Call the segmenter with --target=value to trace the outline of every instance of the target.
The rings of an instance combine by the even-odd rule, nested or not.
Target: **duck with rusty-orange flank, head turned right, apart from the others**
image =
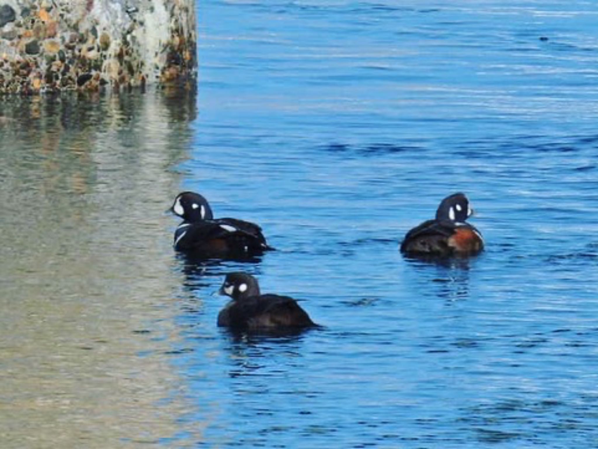
[[[436,218],[414,227],[401,244],[403,253],[419,256],[472,256],[484,248],[480,231],[465,223],[471,216],[469,200],[463,193],[443,199]]]

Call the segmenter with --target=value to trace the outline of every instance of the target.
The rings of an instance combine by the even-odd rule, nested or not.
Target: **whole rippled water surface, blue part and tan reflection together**
[[[5,447],[598,447],[595,5],[197,14],[197,97],[0,104]],[[181,190],[277,250],[175,254]],[[403,257],[457,191],[484,253]],[[230,271],[323,328],[219,329]]]

